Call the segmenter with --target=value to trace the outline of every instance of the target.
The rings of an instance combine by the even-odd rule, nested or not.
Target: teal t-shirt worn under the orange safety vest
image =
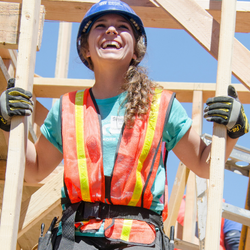
[[[105,176],[110,176],[112,174],[116,147],[124,122],[125,107],[122,104],[126,94],[126,92],[123,92],[122,94],[111,98],[96,99],[102,123],[103,166]],[[188,117],[185,109],[178,100],[174,99],[168,123],[165,125],[163,131],[163,141],[166,142],[168,151],[175,147],[178,141],[190,128],[191,124],[192,120]],[[48,113],[48,116],[41,127],[41,132],[60,152],[63,152],[60,100],[54,104]],[[161,159],[157,175],[151,189],[154,198],[150,208],[159,214],[164,208],[164,205],[160,202],[160,198],[164,194],[165,176],[166,172]],[[97,232],[95,236],[100,236],[100,234],[102,235],[102,233]]]

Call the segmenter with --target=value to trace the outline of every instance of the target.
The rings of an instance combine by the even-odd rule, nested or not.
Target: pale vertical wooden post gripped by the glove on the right
[[[216,80],[217,96],[227,95],[227,87],[231,83],[235,19],[236,0],[223,0]],[[206,250],[218,250],[220,244],[226,136],[225,126],[214,124],[208,193]]]

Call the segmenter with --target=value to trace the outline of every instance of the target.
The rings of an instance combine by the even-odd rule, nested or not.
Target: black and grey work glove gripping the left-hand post
[[[15,87],[15,79],[8,80],[7,90],[0,97],[0,128],[10,131],[11,118],[29,116],[33,111],[32,93]]]

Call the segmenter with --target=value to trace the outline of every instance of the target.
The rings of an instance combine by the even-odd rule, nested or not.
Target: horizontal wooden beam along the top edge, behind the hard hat
[[[21,3],[21,0],[5,1]],[[221,1],[196,1],[198,4],[201,4],[201,6],[204,6],[204,9],[214,16],[217,22],[220,22]],[[42,4],[46,9],[47,20],[81,22],[87,10],[96,2],[97,1],[95,0],[43,0]],[[134,11],[141,17],[145,27],[183,29],[183,27],[174,18],[172,18],[171,15],[167,14],[162,8],[157,8],[151,1],[125,0],[125,2],[130,4]],[[154,0],[154,2],[156,3],[157,1]],[[250,32],[250,6],[247,1],[237,3],[236,32]]]

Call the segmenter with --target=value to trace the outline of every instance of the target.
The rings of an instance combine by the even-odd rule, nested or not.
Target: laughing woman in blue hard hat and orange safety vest
[[[78,53],[94,71],[95,84],[63,95],[41,137],[27,149],[27,182],[41,181],[64,159],[64,214],[54,249],[168,249],[162,141],[197,175],[209,177],[210,146],[192,129],[174,94],[138,66],[146,41],[140,18],[121,1],[93,5],[80,25]],[[13,115],[6,108],[11,92],[1,97],[5,123]],[[30,110],[30,96],[24,98]],[[210,121],[230,124],[226,158],[237,141],[233,138],[248,129],[235,98],[212,98],[205,113]],[[230,130],[239,123],[247,125]]]

